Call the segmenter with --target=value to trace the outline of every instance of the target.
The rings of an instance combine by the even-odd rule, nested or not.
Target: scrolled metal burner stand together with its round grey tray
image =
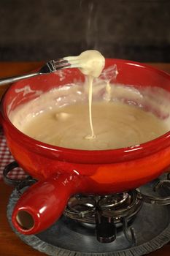
[[[139,256],[170,241],[169,175],[167,179],[161,177],[139,189],[116,195],[75,195],[55,225],[36,236],[23,236],[12,226],[12,210],[20,194],[36,181],[30,176],[24,181],[8,178],[7,174],[17,166],[13,162],[4,169],[4,181],[17,185],[9,198],[7,218],[15,233],[40,252]],[[96,233],[98,241],[104,243],[97,241]]]

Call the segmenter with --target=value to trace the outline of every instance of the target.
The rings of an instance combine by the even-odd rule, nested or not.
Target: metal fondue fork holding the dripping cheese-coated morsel
[[[31,78],[36,75],[44,75],[44,74],[53,73],[59,69],[80,67],[79,62],[77,60],[74,61],[75,60],[74,57],[72,57],[72,58],[73,59],[71,61],[68,61],[66,58],[48,61],[45,64],[45,66],[43,66],[41,69],[39,69],[38,72],[34,72],[31,74],[26,74],[26,75],[13,76],[13,77],[9,77],[9,78],[2,78],[2,79],[0,79],[0,86],[5,85],[7,83],[14,83],[14,82],[17,82],[18,80]]]

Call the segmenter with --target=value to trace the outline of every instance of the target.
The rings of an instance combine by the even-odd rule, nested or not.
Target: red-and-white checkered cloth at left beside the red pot
[[[7,147],[7,143],[4,137],[4,133],[0,127],[0,180],[2,179],[2,173],[4,167],[8,165],[10,162],[13,162],[14,158],[9,152]],[[12,179],[22,179],[26,177],[26,173],[20,167],[15,168],[9,173],[9,177]]]

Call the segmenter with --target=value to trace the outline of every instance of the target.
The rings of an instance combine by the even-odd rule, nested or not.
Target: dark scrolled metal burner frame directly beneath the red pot
[[[74,195],[63,214],[83,223],[85,227],[95,225],[96,238],[101,243],[115,241],[117,228],[122,226],[125,238],[134,246],[134,229],[128,229],[128,222],[134,219],[141,207],[142,200],[138,199],[135,190],[104,196]]]

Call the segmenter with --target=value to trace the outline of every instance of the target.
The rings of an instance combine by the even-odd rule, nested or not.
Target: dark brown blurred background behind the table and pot
[[[170,61],[170,0],[0,0],[0,61]]]

